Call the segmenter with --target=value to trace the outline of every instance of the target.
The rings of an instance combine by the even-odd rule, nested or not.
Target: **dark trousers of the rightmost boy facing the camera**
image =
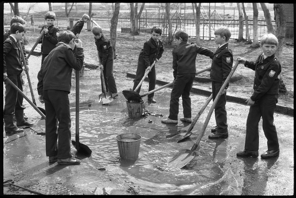
[[[279,94],[265,94],[250,106],[247,118],[245,149],[259,149],[259,121],[262,117],[262,128],[267,139],[268,150],[279,149],[276,126],[274,125],[274,110]]]

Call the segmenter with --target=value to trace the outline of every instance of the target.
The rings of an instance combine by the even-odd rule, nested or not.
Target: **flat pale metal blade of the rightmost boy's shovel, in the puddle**
[[[196,152],[191,152],[190,155],[187,156],[189,154],[189,152],[190,152],[190,150],[188,150],[188,149],[180,150],[173,157],[173,159],[168,162],[168,164],[173,165],[177,168],[182,168],[182,167],[186,166],[186,164],[188,164],[196,156]]]

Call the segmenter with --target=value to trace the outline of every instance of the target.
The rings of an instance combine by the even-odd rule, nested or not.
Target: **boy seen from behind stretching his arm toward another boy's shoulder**
[[[170,94],[170,115],[161,120],[165,124],[178,124],[179,98],[182,96],[183,114],[181,121],[191,123],[190,90],[196,73],[197,54],[213,58],[213,51],[188,43],[188,34],[184,30],[175,33],[177,47],[173,49],[174,85]]]

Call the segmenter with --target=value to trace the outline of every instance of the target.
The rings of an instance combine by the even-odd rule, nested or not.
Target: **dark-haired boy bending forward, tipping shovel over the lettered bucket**
[[[156,65],[154,65],[152,69],[151,69],[151,65],[154,61],[155,63],[158,62],[158,60],[161,58],[164,51],[163,42],[159,38],[161,36],[161,33],[162,33],[162,29],[160,27],[158,26],[152,27],[151,38],[144,43],[144,47],[139,54],[138,67],[137,67],[135,82],[133,84],[133,90],[136,89],[141,79],[144,77],[145,73],[148,70],[150,70],[150,72],[148,73],[148,78],[149,78],[148,91],[155,89],[155,84],[156,84],[155,66]],[[137,92],[140,93],[140,90],[141,90],[141,86],[139,87]],[[153,97],[154,97],[154,93],[149,94],[148,102],[156,103],[156,100]]]

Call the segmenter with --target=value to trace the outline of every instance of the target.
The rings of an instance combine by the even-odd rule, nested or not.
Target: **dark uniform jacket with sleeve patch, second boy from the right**
[[[228,43],[224,44],[221,48],[218,48],[213,57],[210,79],[216,82],[225,82],[232,69],[233,56],[232,51],[228,47]],[[227,89],[229,83],[226,85]]]

